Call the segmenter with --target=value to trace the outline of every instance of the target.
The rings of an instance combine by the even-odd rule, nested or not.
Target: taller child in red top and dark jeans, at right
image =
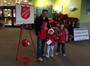
[[[64,28],[64,25],[61,24],[60,25],[60,31],[59,31],[59,42],[58,42],[58,45],[57,45],[57,53],[56,55],[60,54],[60,45],[62,45],[62,54],[63,56],[65,56],[65,42],[66,42],[66,31],[65,31],[65,28]]]

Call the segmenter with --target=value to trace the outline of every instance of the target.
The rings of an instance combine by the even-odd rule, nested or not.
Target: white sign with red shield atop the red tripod
[[[16,5],[16,24],[34,23],[34,6]]]

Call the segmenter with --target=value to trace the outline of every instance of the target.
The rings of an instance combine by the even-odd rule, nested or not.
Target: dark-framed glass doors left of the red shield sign
[[[3,19],[6,27],[18,27],[16,24],[15,6],[1,6],[0,17]],[[1,19],[0,18],[0,19]]]

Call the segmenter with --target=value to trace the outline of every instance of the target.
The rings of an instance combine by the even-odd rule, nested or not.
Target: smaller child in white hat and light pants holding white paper
[[[47,35],[47,54],[46,57],[49,58],[50,56],[54,56],[54,46],[55,46],[55,39],[58,39],[57,36],[54,34],[53,29],[48,30],[48,35]]]

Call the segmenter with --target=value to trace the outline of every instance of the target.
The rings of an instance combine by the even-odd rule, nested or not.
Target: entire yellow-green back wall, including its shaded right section
[[[71,17],[78,17],[80,19],[80,27],[87,27],[90,34],[90,15],[87,15],[86,6],[87,0],[33,0],[35,6],[63,6],[62,13],[68,14]],[[74,12],[69,11],[69,6],[74,5],[78,10]]]

